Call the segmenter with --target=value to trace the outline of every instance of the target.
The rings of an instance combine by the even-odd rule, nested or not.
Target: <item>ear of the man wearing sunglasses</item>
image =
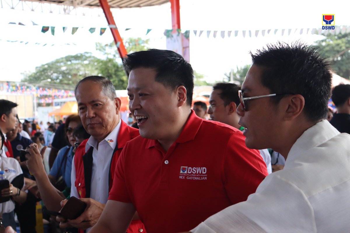
[[[287,121],[293,120],[299,116],[304,109],[305,99],[302,95],[296,94],[282,98],[282,104],[285,103],[285,116]]]

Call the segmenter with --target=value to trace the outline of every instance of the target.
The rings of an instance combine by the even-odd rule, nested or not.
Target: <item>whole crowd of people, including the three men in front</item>
[[[207,106],[179,54],[128,54],[127,122],[100,76],[77,83],[78,114],[57,126],[0,100],[3,225],[16,213],[35,232],[37,201],[59,212],[76,197],[84,212],[55,218],[67,232],[348,232],[350,85],[332,90],[329,62],[300,42],[251,56],[243,84],[216,83]]]

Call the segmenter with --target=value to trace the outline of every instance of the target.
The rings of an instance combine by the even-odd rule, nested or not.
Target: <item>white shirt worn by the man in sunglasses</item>
[[[247,201],[191,232],[350,232],[350,135],[327,120],[306,130],[283,170],[268,175]]]

